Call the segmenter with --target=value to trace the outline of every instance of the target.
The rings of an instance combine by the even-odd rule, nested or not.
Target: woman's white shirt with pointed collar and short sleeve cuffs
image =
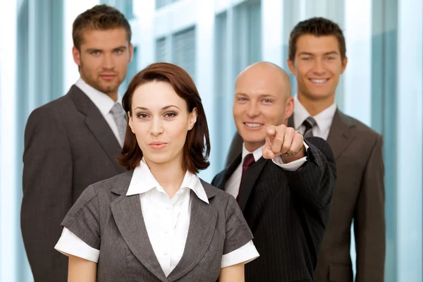
[[[140,195],[142,217],[149,241],[159,264],[168,276],[180,261],[190,226],[190,191],[203,202],[209,204],[206,192],[197,175],[187,171],[183,183],[176,194],[169,198],[164,189],[152,175],[144,160],[135,168],[130,181],[127,196]],[[63,232],[55,249],[64,255],[74,255],[92,262],[98,262],[99,252],[80,240],[67,228]],[[221,267],[250,262],[259,257],[252,240],[243,247],[223,255]]]

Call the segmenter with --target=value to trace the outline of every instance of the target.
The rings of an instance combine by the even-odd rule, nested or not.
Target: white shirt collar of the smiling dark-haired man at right
[[[298,100],[297,95],[295,95],[294,97],[294,105],[295,105],[294,126],[295,126],[295,129],[298,130],[298,128],[300,128],[302,123],[305,121],[305,119],[311,115],[309,114],[307,109],[305,109],[305,106],[302,106],[302,104]],[[336,104],[335,102],[333,102],[331,106],[324,109],[316,116],[313,116],[314,121],[316,121],[317,126],[320,128],[320,130],[325,130],[326,128],[329,129],[331,127],[331,123],[333,120],[333,116],[335,116],[335,112],[336,112]]]

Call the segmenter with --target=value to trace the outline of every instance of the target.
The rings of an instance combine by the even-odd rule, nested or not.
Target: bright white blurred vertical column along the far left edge
[[[1,1],[0,10],[0,281],[13,281],[20,238],[16,224],[16,1]]]

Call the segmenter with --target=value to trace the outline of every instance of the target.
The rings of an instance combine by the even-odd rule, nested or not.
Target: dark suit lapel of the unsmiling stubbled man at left
[[[121,145],[97,106],[75,85],[69,90],[69,95],[78,111],[86,116],[85,124],[102,146],[104,152],[108,154],[116,170],[118,172],[124,171],[124,168],[116,161],[116,157],[121,152]]]

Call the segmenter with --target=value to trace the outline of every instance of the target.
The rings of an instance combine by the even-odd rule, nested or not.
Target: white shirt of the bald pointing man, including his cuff
[[[305,152],[307,152],[308,145],[303,143],[305,147]],[[263,147],[259,147],[254,152],[252,152],[252,156],[254,157],[255,161],[258,161],[261,157],[263,157]],[[226,182],[225,185],[225,191],[229,194],[233,195],[233,197],[238,197],[238,192],[240,190],[240,184],[241,184],[241,177],[243,176],[243,160],[247,154],[250,154],[251,152],[248,152],[247,149],[245,149],[245,145],[243,144],[243,155],[241,159],[241,163],[238,165],[237,168],[235,168],[235,171],[233,171],[232,175],[229,177],[228,182]],[[296,171],[298,168],[302,166],[307,161],[307,157],[302,157],[301,159],[297,159],[295,161],[291,161],[288,164],[285,164],[281,156],[275,157],[272,159],[274,164],[277,166],[280,166],[281,168],[287,170],[287,171]]]

